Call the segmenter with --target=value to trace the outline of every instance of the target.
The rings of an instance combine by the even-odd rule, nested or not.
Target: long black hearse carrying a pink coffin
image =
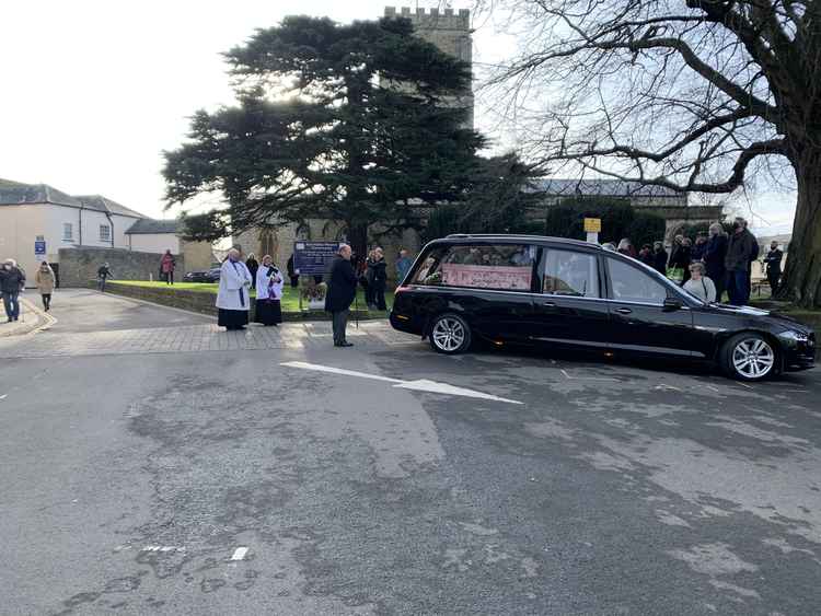
[[[391,325],[459,353],[475,338],[709,361],[759,381],[814,365],[816,334],[749,306],[707,304],[601,246],[529,235],[428,244],[396,289]]]

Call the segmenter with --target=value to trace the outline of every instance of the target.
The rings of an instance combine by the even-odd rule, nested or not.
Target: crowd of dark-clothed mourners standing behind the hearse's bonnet
[[[720,302],[725,291],[731,304],[750,301],[752,263],[759,258],[759,242],[743,218],[733,221],[731,234],[719,223],[712,224],[707,233],[698,233],[695,242],[679,234],[669,254],[662,242],[645,244],[638,253],[627,239],[617,247],[604,247],[640,260],[706,302]],[[778,292],[783,257],[778,243],[772,242],[763,260],[773,297]]]

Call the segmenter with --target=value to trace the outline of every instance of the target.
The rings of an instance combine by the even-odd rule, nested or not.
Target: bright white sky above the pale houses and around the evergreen
[[[3,2],[0,36],[0,177],[69,194],[101,194],[148,216],[163,213],[162,150],[188,116],[232,102],[220,53],[285,15],[375,19],[384,0],[27,0]],[[406,1],[416,7],[417,2]],[[419,1],[419,7],[439,2]],[[471,0],[452,2],[470,8]],[[474,60],[514,49],[493,20],[474,23]],[[476,115],[494,133],[493,116]],[[753,204],[759,232],[789,230],[790,195]]]

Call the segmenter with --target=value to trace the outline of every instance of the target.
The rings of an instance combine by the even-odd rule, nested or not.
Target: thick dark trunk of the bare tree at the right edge
[[[793,161],[798,204],[779,298],[802,307],[821,306],[821,150]]]

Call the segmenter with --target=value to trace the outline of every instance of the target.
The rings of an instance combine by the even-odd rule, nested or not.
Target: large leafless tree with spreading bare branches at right
[[[492,84],[539,123],[531,155],[715,195],[791,168],[784,293],[821,303],[821,0],[492,3],[521,49]]]

